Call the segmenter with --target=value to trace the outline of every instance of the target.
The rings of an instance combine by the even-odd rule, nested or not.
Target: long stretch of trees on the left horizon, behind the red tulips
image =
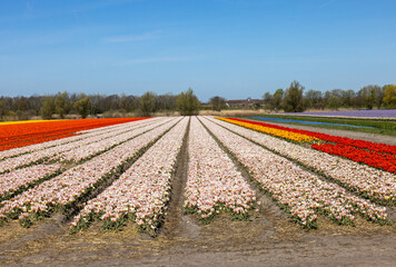
[[[48,96],[0,97],[0,119],[6,117],[27,120],[40,116],[43,119],[103,116],[151,116],[155,112],[167,115],[197,115],[200,101],[189,88],[179,95],[157,95],[146,92],[141,97],[122,95],[86,95],[67,91]]]

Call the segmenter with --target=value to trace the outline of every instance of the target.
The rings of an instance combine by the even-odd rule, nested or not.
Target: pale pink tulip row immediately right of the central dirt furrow
[[[188,180],[185,210],[210,221],[220,211],[247,218],[256,197],[227,154],[195,117],[188,141]]]

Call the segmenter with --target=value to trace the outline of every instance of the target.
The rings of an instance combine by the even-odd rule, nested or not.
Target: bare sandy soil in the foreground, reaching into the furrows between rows
[[[338,226],[319,218],[317,230],[296,224],[251,182],[260,212],[248,221],[219,215],[202,225],[182,214],[187,176],[182,148],[172,182],[169,212],[151,238],[132,224],[120,231],[100,231],[100,224],[69,235],[69,219],[56,214],[33,227],[18,221],[0,227],[1,266],[395,266],[396,225],[378,226],[358,218]],[[246,175],[246,174],[245,174]],[[247,177],[246,177],[247,178]],[[247,178],[248,179],[248,178]],[[389,209],[396,221],[395,209]]]

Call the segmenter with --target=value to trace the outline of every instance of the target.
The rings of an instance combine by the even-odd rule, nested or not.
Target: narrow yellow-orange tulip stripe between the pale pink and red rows
[[[242,122],[242,121],[237,121],[237,120],[220,118],[220,117],[216,117],[216,119],[224,120],[224,121],[227,121],[227,122],[230,122],[234,125],[238,125],[238,126],[241,126],[241,127],[245,127],[248,129],[261,131],[264,134],[268,134],[268,135],[271,135],[275,137],[280,137],[280,138],[288,139],[288,140],[296,141],[296,142],[321,141],[319,138],[298,134],[298,132],[293,132],[293,131],[288,131],[288,130],[280,130],[280,129],[276,129],[276,128],[271,128],[271,127],[253,125],[253,123],[248,123],[248,122]]]

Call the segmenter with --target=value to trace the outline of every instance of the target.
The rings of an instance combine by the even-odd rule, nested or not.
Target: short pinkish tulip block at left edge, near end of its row
[[[34,165],[0,175],[0,201],[59,174],[61,170],[59,164]]]

